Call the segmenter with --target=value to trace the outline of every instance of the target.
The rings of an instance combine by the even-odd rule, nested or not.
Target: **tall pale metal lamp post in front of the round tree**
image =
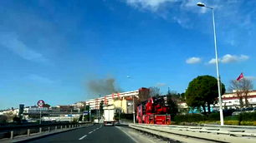
[[[202,2],[197,2],[198,7],[207,7]],[[216,30],[215,30],[215,21],[214,21],[214,10],[213,7],[207,7],[212,10],[212,25],[213,25],[213,36],[214,36],[214,47],[215,47],[215,60],[216,60],[216,71],[217,71],[217,80],[218,80],[218,102],[219,102],[219,113],[220,113],[220,121],[221,126],[224,125],[223,121],[223,102],[222,102],[222,95],[221,95],[221,83],[220,83],[220,77],[219,77],[219,70],[218,70],[218,48],[217,48],[217,42],[216,42]]]

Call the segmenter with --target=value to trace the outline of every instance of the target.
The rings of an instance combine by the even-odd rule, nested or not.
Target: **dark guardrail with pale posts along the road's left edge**
[[[0,142],[1,140],[11,139],[16,137],[39,135],[51,131],[64,131],[74,129],[79,126],[88,125],[90,123],[77,123],[77,124],[43,124],[43,125],[30,125],[30,126],[2,126],[0,127]]]

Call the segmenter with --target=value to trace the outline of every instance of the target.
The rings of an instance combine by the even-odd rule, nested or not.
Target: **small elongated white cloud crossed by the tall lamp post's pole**
[[[248,58],[249,57],[246,55],[236,56],[236,55],[226,54],[223,57],[219,58],[218,61],[221,63],[233,63],[233,62],[243,62],[243,61],[248,60]],[[209,64],[216,63],[215,58],[212,58],[208,63]]]

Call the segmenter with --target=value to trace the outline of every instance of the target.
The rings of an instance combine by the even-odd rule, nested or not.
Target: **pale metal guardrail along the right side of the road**
[[[177,141],[187,141],[187,138],[198,139],[200,141],[214,142],[255,142],[256,133],[248,133],[243,130],[220,131],[214,128],[203,129],[200,126],[156,126],[130,124],[131,128],[138,131],[151,133],[162,138],[174,139]],[[198,142],[200,142],[198,141]]]

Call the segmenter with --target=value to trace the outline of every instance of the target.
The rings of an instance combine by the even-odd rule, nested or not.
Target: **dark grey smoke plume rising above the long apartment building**
[[[120,88],[115,85],[114,78],[105,78],[99,80],[91,80],[88,82],[88,89],[101,95],[109,95],[111,93],[120,92]]]

